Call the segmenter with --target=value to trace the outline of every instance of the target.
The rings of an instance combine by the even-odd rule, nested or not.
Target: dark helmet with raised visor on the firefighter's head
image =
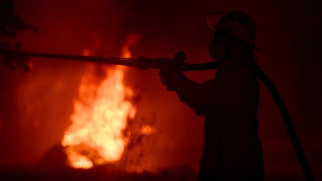
[[[209,13],[206,17],[211,28],[227,33],[255,50],[261,50],[254,45],[256,25],[250,15],[236,10]]]

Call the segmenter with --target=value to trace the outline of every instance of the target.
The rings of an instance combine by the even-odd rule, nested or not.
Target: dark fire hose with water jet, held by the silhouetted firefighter
[[[87,61],[87,62],[107,63],[107,64],[113,64],[113,65],[124,65],[128,67],[137,67],[142,70],[153,69],[153,68],[160,69],[162,66],[162,60],[158,58],[149,59],[149,58],[122,58],[122,57],[100,57],[100,56],[75,56],[75,55],[34,53],[34,52],[15,52],[15,51],[1,51],[0,53],[5,54],[7,56],[34,56],[34,57],[55,58],[55,59],[81,60],[81,61]],[[180,71],[210,70],[210,69],[218,68],[220,65],[219,61],[200,63],[200,64],[188,64],[188,63],[184,63],[185,60],[186,60],[186,55],[183,51],[178,51],[172,59],[172,61],[178,66]],[[297,158],[300,162],[300,165],[306,180],[314,181],[312,171],[307,162],[300,140],[296,134],[291,117],[288,114],[287,108],[279,92],[275,88],[272,81],[261,70],[260,67],[257,68],[256,75],[265,84],[265,86],[269,90],[270,94],[272,95],[278,107],[278,110],[283,118],[285,127],[287,129],[288,135],[290,136],[291,142],[293,144],[294,150],[296,152]]]

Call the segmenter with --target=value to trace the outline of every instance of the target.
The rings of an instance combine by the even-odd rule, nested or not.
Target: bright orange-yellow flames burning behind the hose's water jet
[[[131,55],[124,45],[123,57]],[[89,49],[84,55],[91,55]],[[134,94],[123,85],[125,68],[104,68],[103,81],[96,80],[95,70],[85,73],[79,87],[79,98],[74,101],[72,125],[65,132],[62,145],[73,168],[88,169],[94,165],[118,161],[128,138],[123,135],[128,118],[133,119],[135,107],[125,98]]]

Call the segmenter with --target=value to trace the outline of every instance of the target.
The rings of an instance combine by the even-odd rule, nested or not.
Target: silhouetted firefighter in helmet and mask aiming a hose
[[[259,82],[253,50],[256,26],[241,11],[207,16],[215,29],[210,55],[221,62],[215,78],[203,84],[189,80],[170,59],[160,78],[167,90],[204,116],[200,181],[264,181],[262,145],[257,131]]]

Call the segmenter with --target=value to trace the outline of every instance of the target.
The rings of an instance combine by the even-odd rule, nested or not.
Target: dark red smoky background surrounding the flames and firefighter
[[[134,57],[172,57],[178,50],[191,63],[211,61],[207,45],[213,36],[205,21],[210,11],[239,9],[257,23],[258,64],[279,90],[293,119],[308,162],[321,180],[322,12],[319,0],[16,0],[21,19],[38,33],[18,35],[22,50],[119,56],[129,34],[142,35],[131,47]],[[34,70],[0,65],[0,165],[36,164],[61,141],[71,124],[86,63],[31,58]],[[203,82],[215,70],[186,74]],[[162,87],[158,71],[130,69],[126,84],[138,87],[138,117],[157,115],[161,131],[146,159],[148,171],[185,165],[198,170],[203,118]],[[278,109],[261,84],[259,134],[266,175],[303,178]]]

